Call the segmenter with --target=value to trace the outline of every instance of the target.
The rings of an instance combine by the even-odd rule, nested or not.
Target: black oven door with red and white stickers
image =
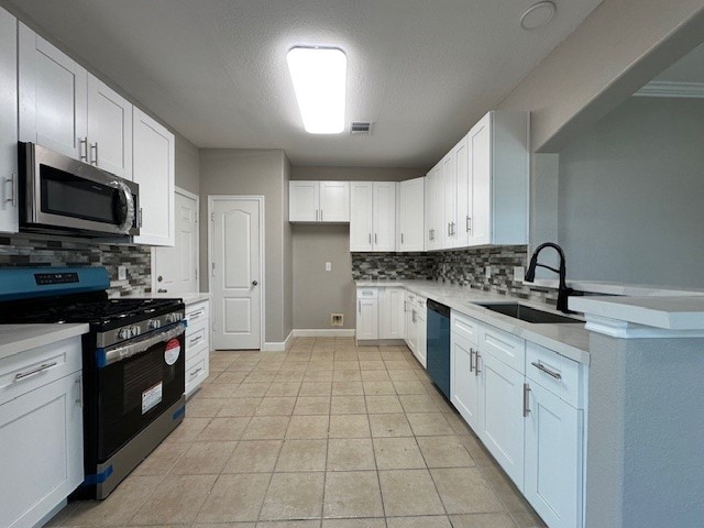
[[[185,323],[98,351],[98,461],[176,403],[185,388]]]

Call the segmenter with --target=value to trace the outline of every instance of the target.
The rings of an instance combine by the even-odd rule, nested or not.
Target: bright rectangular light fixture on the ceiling
[[[294,47],[286,61],[306,132],[342,132],[348,67],[344,52],[332,47]]]

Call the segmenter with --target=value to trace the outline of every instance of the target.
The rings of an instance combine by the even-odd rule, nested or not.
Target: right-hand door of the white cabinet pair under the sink
[[[484,351],[475,362],[482,377],[480,438],[522,491],[525,376]]]

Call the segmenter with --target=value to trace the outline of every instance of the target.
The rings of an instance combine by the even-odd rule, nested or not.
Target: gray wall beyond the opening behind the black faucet
[[[569,276],[704,287],[703,138],[704,100],[631,98],[560,153]]]

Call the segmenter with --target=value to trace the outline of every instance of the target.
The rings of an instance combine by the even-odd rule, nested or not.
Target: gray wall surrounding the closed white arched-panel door
[[[289,243],[288,160],[282,150],[202,148],[200,151],[200,268],[207,270],[208,260],[208,196],[209,195],[262,195],[264,196],[266,268],[266,342],[282,342],[292,324],[287,308],[292,294],[288,271],[293,265]],[[201,288],[208,290],[207,273],[201,274]]]

